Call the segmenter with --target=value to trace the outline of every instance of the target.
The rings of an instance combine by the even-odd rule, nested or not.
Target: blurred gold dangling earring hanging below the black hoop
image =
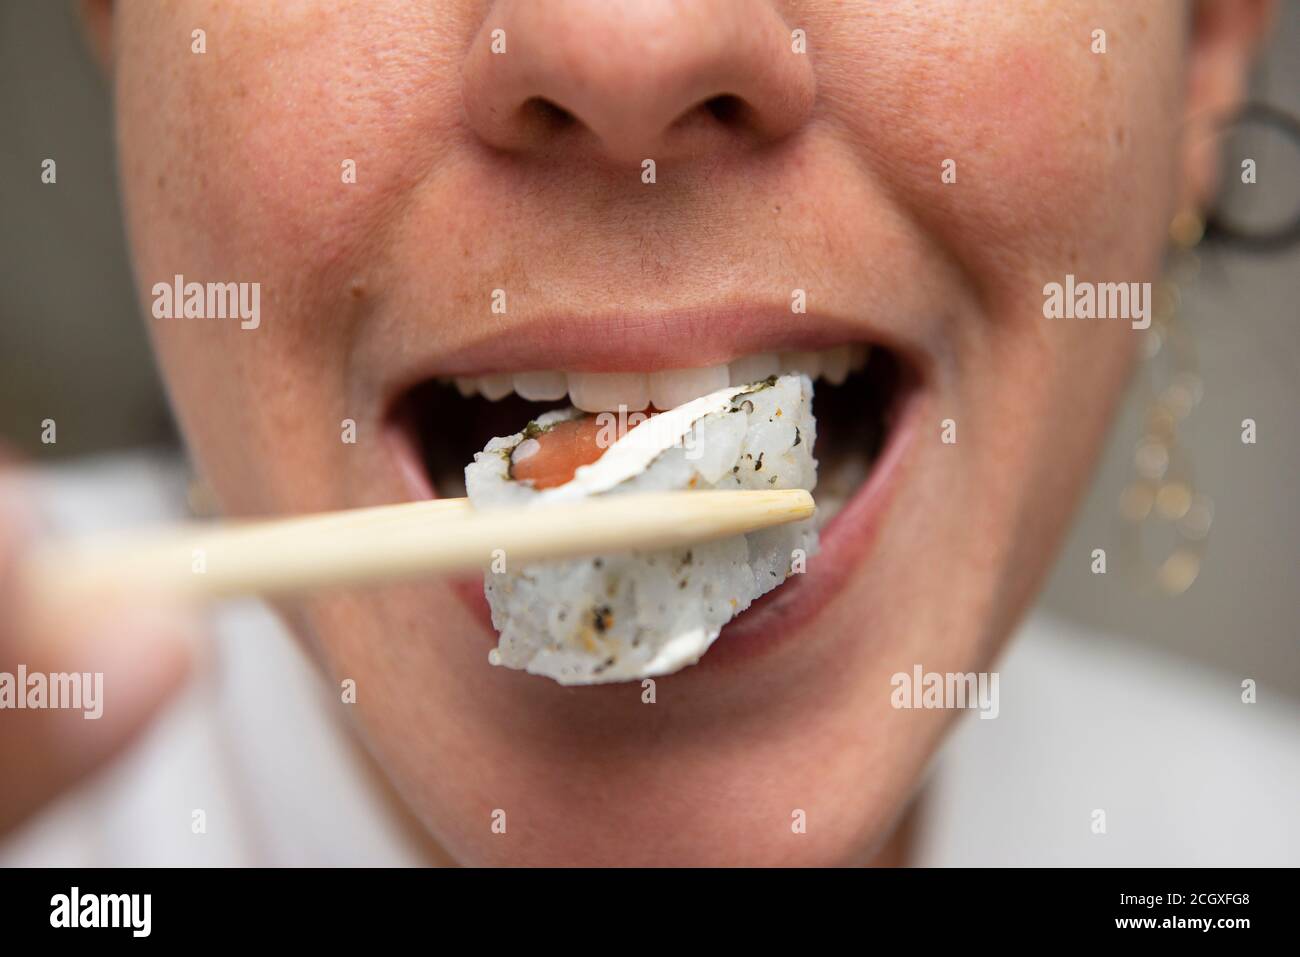
[[[1170,224],[1166,274],[1156,286],[1152,324],[1144,333],[1143,436],[1134,449],[1134,477],[1119,495],[1124,551],[1138,579],[1170,596],[1186,592],[1200,575],[1214,520],[1214,503],[1196,488],[1192,463],[1178,441],[1179,426],[1204,390],[1195,339],[1178,321],[1183,293],[1200,274],[1196,244],[1204,231],[1205,222],[1193,211]],[[1156,537],[1166,540],[1160,551],[1147,541]],[[1165,558],[1154,560],[1153,553]]]

